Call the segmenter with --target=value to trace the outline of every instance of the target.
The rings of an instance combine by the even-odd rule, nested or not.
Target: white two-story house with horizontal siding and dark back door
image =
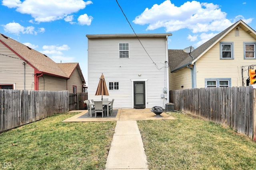
[[[164,107],[169,101],[168,47],[171,33],[103,34],[88,38],[88,99],[103,73],[114,108]]]

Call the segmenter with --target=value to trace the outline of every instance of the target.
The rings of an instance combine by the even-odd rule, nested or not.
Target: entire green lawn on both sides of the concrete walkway
[[[58,114],[0,133],[0,168],[103,170],[116,122],[62,122]],[[185,114],[137,121],[150,170],[256,170],[256,143]],[[4,166],[4,163],[11,166]]]

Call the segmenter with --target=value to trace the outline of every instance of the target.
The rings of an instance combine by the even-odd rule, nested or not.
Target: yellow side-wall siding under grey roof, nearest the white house
[[[169,82],[170,90],[192,88],[191,70],[187,67],[184,67],[177,72],[169,73]],[[184,87],[182,88],[181,86]]]

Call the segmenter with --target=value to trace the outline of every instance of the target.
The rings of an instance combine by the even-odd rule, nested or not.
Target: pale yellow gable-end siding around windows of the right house
[[[196,87],[205,87],[205,78],[231,78],[232,86],[242,86],[241,66],[256,64],[256,59],[244,59],[244,42],[255,42],[244,30],[240,29],[240,36],[235,36],[235,29],[230,31],[216,45],[208,50],[196,61]],[[220,42],[234,43],[234,59],[220,59]],[[244,72],[244,82],[248,78]]]

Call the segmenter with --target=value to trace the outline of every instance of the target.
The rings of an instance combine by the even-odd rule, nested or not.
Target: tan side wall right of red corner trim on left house
[[[38,81],[38,90],[67,90],[65,78],[43,75]]]

